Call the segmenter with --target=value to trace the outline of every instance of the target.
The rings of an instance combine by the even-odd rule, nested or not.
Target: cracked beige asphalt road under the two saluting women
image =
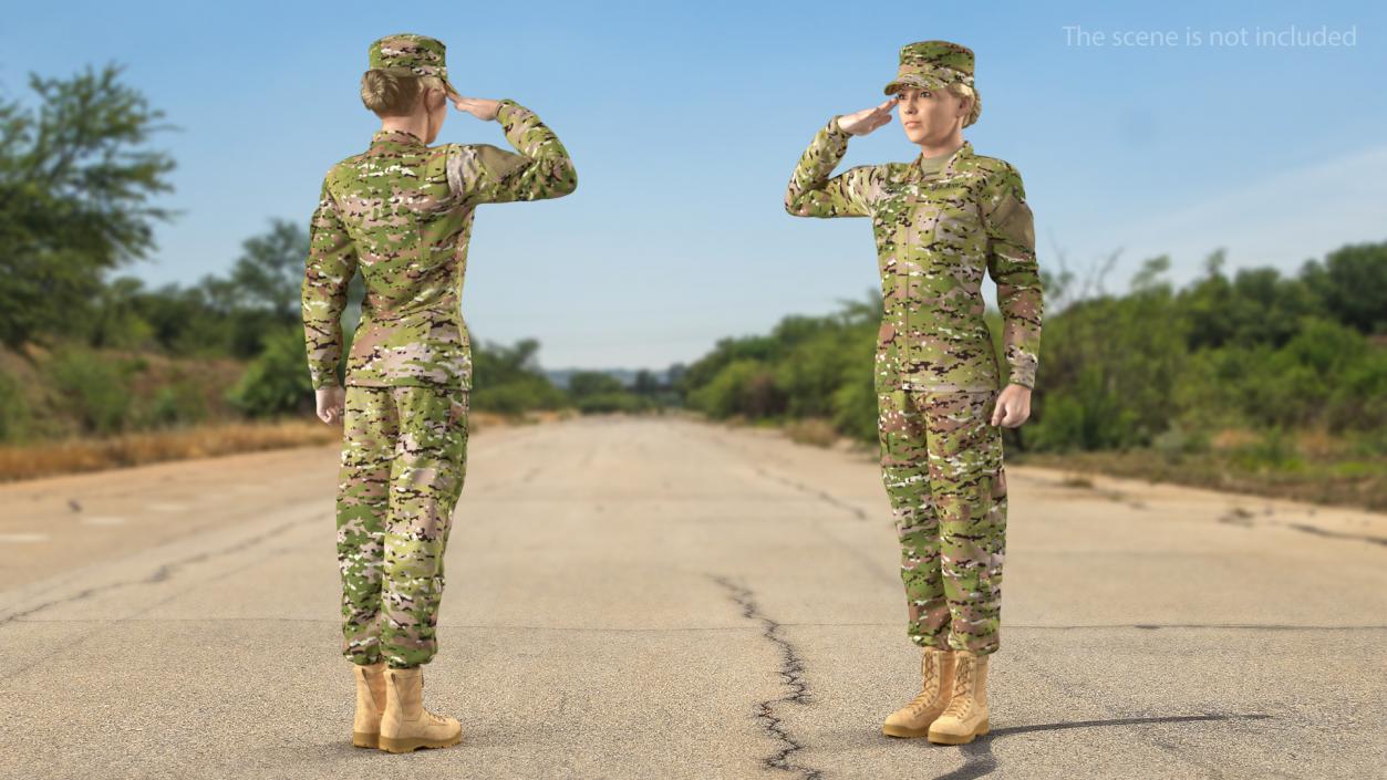
[[[992,733],[920,684],[868,456],[682,418],[477,432],[426,702],[351,747],[337,447],[0,486],[0,777],[1381,777],[1387,515],[1008,466]]]

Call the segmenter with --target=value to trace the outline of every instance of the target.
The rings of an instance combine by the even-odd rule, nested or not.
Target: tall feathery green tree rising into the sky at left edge
[[[101,287],[101,273],[155,247],[153,220],[173,212],[147,200],[173,187],[173,161],[140,148],[153,122],[121,68],[71,79],[29,73],[37,111],[0,103],[0,342],[19,348],[67,333]]]

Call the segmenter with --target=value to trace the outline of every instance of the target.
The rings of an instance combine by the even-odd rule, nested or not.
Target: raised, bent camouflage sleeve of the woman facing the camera
[[[881,168],[859,165],[829,179],[847,152],[850,133],[838,126],[838,115],[814,133],[799,158],[785,190],[785,211],[793,216],[871,216],[881,186]]]

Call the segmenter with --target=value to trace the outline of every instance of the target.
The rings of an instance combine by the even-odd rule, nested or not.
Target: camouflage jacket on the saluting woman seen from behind
[[[497,121],[520,154],[491,144],[429,147],[412,133],[380,130],[365,152],[327,170],[302,285],[313,389],[337,385],[341,314],[356,269],[366,299],[347,384],[472,388],[460,302],[476,206],[577,187],[558,136],[516,101],[499,103]]]

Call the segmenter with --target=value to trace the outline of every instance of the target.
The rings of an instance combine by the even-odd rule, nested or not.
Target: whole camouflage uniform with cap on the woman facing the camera
[[[886,93],[949,82],[972,86],[972,53],[924,42],[902,50]],[[872,220],[885,303],[875,362],[882,481],[900,533],[907,632],[920,646],[994,653],[1007,479],[1001,429],[989,424],[1000,371],[981,288],[986,269],[1008,381],[1033,387],[1042,287],[1021,175],[964,141],[947,159],[921,152],[829,177],[849,137],[836,115],[818,130],[785,209]]]

